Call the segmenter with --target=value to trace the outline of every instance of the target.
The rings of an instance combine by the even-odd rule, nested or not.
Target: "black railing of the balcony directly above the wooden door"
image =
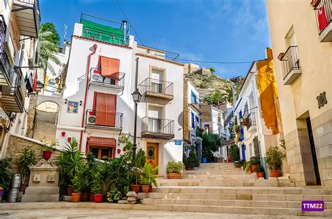
[[[141,132],[174,135],[174,120],[146,116],[141,119]]]

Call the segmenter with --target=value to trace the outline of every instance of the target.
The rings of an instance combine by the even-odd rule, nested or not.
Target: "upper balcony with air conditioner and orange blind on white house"
[[[125,87],[125,73],[117,72],[113,73],[112,76],[102,76],[102,69],[91,68],[89,77],[90,85],[109,87],[116,90],[116,94],[123,92]]]

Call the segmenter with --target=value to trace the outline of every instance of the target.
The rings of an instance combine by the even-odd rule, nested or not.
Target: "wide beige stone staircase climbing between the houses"
[[[324,212],[303,212],[303,200],[324,200]],[[289,179],[256,178],[233,164],[200,164],[179,180],[158,179],[142,204],[163,211],[332,216],[332,190],[294,187]]]

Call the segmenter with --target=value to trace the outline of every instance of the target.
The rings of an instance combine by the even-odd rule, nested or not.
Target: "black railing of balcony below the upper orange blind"
[[[107,74],[107,73],[106,73]],[[125,85],[125,73],[116,72],[112,76],[103,76],[102,69],[91,68],[90,70],[90,82],[100,83],[101,85]]]

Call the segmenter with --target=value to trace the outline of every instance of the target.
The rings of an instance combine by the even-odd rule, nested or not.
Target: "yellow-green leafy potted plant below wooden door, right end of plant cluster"
[[[148,192],[152,192],[152,184],[155,187],[158,187],[157,181],[155,181],[155,178],[157,178],[157,171],[158,166],[155,168],[151,167],[151,164],[144,164],[143,167],[143,174],[141,175],[141,190],[143,192],[146,192],[146,188]]]

